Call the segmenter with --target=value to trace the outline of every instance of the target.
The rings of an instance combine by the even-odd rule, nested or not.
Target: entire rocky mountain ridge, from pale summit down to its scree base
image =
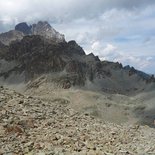
[[[75,41],[66,42],[47,22],[20,23],[15,30],[0,34],[0,42],[2,84],[31,86],[44,76],[44,81],[65,89],[78,86],[121,94],[155,89],[153,76],[118,62],[101,61],[92,53],[86,55]]]

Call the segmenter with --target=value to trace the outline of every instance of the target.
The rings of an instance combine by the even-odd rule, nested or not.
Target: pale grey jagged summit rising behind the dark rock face
[[[54,42],[65,42],[65,36],[57,32],[46,21],[39,21],[32,25],[28,25],[26,22],[19,23],[14,30],[0,34],[0,42],[9,45],[12,41],[19,41],[27,35],[40,35]]]

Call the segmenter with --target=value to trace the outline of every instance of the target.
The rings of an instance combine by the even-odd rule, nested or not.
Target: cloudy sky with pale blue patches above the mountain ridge
[[[86,53],[155,73],[155,0],[0,0],[0,32],[39,20]]]

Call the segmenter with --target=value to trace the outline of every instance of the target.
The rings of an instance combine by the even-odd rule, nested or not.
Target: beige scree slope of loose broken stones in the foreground
[[[155,130],[103,123],[69,108],[0,88],[0,154],[155,154]]]

